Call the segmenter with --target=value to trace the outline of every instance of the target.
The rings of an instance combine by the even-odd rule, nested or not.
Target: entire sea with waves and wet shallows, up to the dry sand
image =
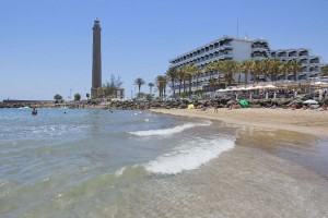
[[[0,109],[0,217],[328,217],[327,147],[151,111]]]

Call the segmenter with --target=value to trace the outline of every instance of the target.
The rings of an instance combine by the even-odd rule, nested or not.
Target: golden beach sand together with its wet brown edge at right
[[[237,131],[239,149],[262,150],[328,181],[328,111],[291,109],[152,109],[152,112],[221,121]],[[294,146],[293,146],[294,145]],[[244,150],[245,152],[245,150]],[[253,150],[254,152],[254,150]],[[256,158],[256,156],[254,157]]]

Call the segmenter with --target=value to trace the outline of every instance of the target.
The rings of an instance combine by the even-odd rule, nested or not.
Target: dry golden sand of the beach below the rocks
[[[328,111],[303,109],[291,110],[281,108],[247,108],[232,110],[220,108],[218,112],[214,112],[213,109],[207,109],[206,111],[196,109],[152,109],[151,111],[173,116],[220,120],[236,125],[288,130],[328,137]]]

